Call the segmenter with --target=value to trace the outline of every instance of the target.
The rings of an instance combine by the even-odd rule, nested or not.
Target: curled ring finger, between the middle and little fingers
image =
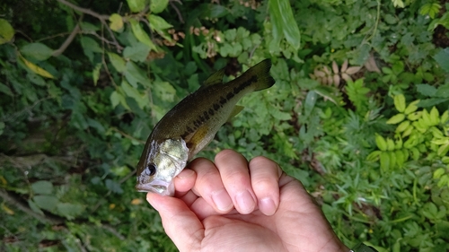
[[[256,207],[256,196],[252,191],[248,161],[238,152],[225,150],[216,154],[216,168],[233,199],[239,213],[247,214]]]

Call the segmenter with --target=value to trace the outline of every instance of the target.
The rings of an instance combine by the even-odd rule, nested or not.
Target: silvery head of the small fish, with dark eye
[[[137,166],[139,192],[174,195],[173,178],[186,167],[189,149],[182,138],[151,141]]]

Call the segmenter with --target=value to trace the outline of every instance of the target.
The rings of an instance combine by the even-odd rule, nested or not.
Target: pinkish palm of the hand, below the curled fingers
[[[207,216],[202,221],[201,247],[205,251],[210,251],[209,247],[214,251],[323,251],[335,239],[333,233],[326,222],[319,222],[321,211],[312,199],[298,198],[300,187],[292,187],[292,183],[297,182],[290,179],[280,187],[281,204],[272,216],[259,210]]]

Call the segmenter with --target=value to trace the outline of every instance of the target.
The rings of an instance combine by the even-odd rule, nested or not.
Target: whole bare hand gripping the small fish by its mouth
[[[180,251],[349,251],[303,185],[265,157],[225,150],[174,182],[174,197],[146,199]]]

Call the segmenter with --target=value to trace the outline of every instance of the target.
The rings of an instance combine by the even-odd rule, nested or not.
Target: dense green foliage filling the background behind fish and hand
[[[2,249],[175,251],[134,189],[146,137],[267,57],[277,83],[200,155],[277,161],[349,247],[449,249],[447,4],[44,2],[0,4]]]

